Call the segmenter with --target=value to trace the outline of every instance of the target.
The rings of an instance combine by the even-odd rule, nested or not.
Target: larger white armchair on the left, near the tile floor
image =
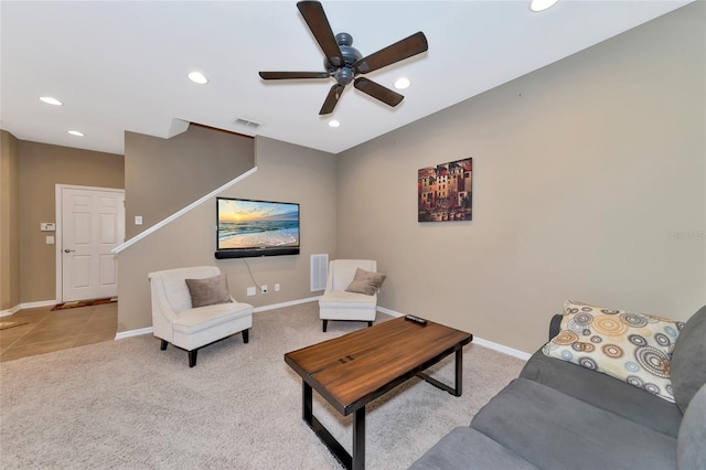
[[[215,266],[169,269],[148,275],[152,293],[153,334],[161,339],[160,349],[169,343],[189,352],[189,366],[196,365],[199,349],[215,341],[243,332],[243,342],[249,340],[253,327],[253,306],[237,302],[227,286],[222,286],[226,303],[194,308],[186,279],[207,279],[218,276]],[[227,299],[229,298],[229,302]]]

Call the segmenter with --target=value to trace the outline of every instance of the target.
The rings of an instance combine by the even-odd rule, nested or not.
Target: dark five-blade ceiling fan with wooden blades
[[[422,32],[410,35],[399,42],[388,45],[374,54],[363,55],[352,46],[353,38],[347,33],[339,33],[335,36],[323,12],[323,7],[318,1],[300,1],[297,8],[309,25],[311,33],[321,46],[325,58],[323,66],[325,72],[260,72],[264,79],[292,79],[292,78],[329,78],[335,79],[331,87],[320,115],[333,113],[343,89],[353,82],[353,86],[375,99],[397,106],[405,98],[368,78],[360,77],[368,72],[376,71],[413,55],[420,54],[428,49],[427,38]]]

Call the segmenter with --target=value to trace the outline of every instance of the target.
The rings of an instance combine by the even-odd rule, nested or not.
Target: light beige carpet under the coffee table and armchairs
[[[389,317],[378,313],[378,321]],[[339,469],[301,419],[301,380],[286,352],[363,328],[330,322],[315,302],[254,316],[240,334],[199,352],[129,338],[0,365],[2,469]],[[473,415],[523,361],[469,344],[463,395],[413,378],[367,407],[366,467],[406,469]],[[453,380],[453,357],[432,370]],[[351,450],[351,417],[314,392],[314,415]]]

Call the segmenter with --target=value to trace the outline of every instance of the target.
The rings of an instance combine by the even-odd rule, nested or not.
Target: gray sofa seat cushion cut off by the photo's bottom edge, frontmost
[[[469,427],[458,427],[446,435],[409,470],[422,469],[534,470],[535,466],[520,458],[488,436]]]

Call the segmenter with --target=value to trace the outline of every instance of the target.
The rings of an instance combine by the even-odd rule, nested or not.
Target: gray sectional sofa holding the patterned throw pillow
[[[682,329],[671,374],[676,403],[537,351],[410,469],[706,469],[706,307]]]

